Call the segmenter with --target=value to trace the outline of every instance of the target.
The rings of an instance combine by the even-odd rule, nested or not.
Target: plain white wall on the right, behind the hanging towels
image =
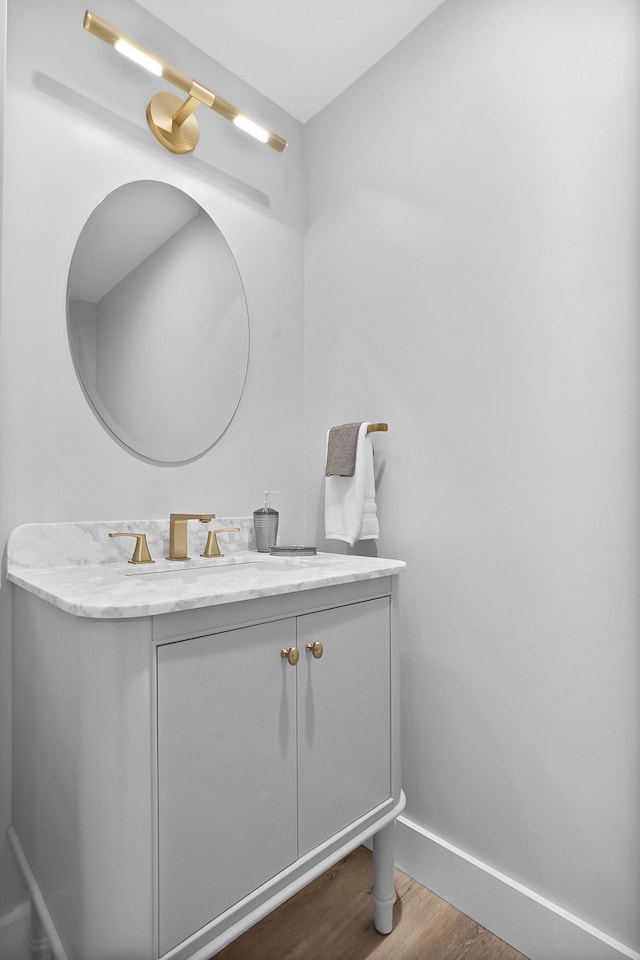
[[[447,0],[305,128],[308,498],[389,422],[405,865],[549,960],[640,950],[639,10]]]

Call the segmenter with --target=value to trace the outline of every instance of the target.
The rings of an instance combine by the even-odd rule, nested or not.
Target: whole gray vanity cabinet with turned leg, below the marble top
[[[202,960],[369,838],[389,932],[391,609],[391,577],[112,619],[14,590],[9,835],[56,960]]]

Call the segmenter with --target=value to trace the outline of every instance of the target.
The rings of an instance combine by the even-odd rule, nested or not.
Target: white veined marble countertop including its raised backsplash
[[[400,573],[400,560],[319,553],[305,558],[257,553],[246,518],[213,521],[207,529],[241,526],[224,557],[206,560],[163,558],[159,529],[166,521],[85,524],[28,524],[13,531],[7,546],[7,578],[68,613],[116,619],[154,616],[196,607],[254,600]],[[129,538],[109,540],[109,531],[142,530],[154,544],[156,562],[133,565]],[[203,533],[199,531],[200,538]],[[230,540],[232,534],[221,534]],[[123,542],[126,546],[123,548]],[[154,551],[152,550],[152,556]],[[89,562],[87,562],[87,558]]]

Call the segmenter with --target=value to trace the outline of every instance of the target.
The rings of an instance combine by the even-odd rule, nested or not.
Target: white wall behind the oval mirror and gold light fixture
[[[303,203],[301,127],[133,0],[97,11],[289,141],[280,155],[199,108],[201,139],[175,157],[149,132],[164,84],[82,28],[84,0],[9,0],[0,313],[0,541],[38,520],[247,515],[265,487],[282,537],[303,530]],[[73,369],[66,282],[76,239],[111,190],[165,180],[216,221],[243,277],[251,324],[238,413],[202,459],[158,467],[100,426]],[[221,358],[223,361],[224,358]],[[9,591],[0,589],[0,917],[24,894],[5,842],[10,822]]]

